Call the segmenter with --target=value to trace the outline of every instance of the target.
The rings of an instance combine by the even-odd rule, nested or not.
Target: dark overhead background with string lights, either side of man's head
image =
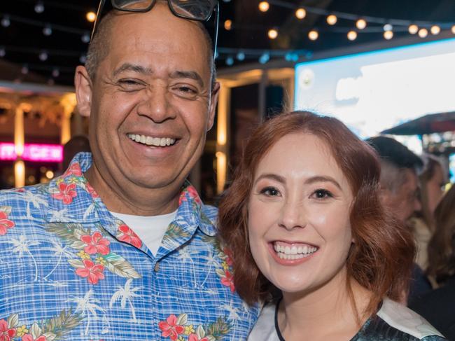
[[[261,55],[273,60],[297,54],[310,57],[321,50],[363,43],[380,42],[384,46],[386,23],[393,24],[391,44],[400,36],[409,36],[407,25],[414,22],[419,27],[440,25],[440,35],[428,34],[426,38],[438,39],[447,36],[455,18],[453,0],[271,0],[265,13],[258,10],[259,2],[221,0],[218,67],[231,62],[258,62]],[[43,5],[41,13],[35,10],[38,3]],[[0,0],[0,64],[9,65],[8,73],[0,68],[0,80],[32,79],[71,85],[74,67],[83,61],[87,50],[87,42],[83,40],[90,35],[92,27],[85,13],[96,11],[97,4],[96,0]],[[297,20],[294,14],[300,6],[307,8],[303,20]],[[337,14],[336,25],[327,24],[330,13]],[[355,28],[357,18],[365,18],[367,28],[357,29],[357,39],[349,41],[346,34]],[[232,20],[230,31],[224,28],[225,20]],[[213,31],[213,22],[209,25]],[[271,28],[279,32],[274,40],[267,37]],[[308,39],[311,29],[319,33],[316,41]],[[239,60],[242,57],[244,60]]]

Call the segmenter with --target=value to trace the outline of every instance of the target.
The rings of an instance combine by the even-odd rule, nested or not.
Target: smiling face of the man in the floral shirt
[[[113,20],[87,99],[97,172],[120,191],[179,188],[214,123],[209,46],[160,3]]]

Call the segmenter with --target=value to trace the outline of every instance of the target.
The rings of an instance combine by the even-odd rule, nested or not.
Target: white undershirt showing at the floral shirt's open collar
[[[111,212],[111,214],[127,224],[155,256],[167,227],[177,215],[177,210],[162,216],[132,216],[116,212]]]

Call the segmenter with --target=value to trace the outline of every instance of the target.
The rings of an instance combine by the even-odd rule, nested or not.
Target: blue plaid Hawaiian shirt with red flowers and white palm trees
[[[50,183],[0,192],[0,340],[246,340],[214,207],[183,186],[156,256],[112,216],[80,153]]]

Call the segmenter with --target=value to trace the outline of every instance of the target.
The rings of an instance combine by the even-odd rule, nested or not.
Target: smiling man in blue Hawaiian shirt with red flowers
[[[218,99],[207,33],[157,1],[91,44],[75,82],[92,155],[0,195],[0,340],[245,340],[258,307],[186,182]]]

